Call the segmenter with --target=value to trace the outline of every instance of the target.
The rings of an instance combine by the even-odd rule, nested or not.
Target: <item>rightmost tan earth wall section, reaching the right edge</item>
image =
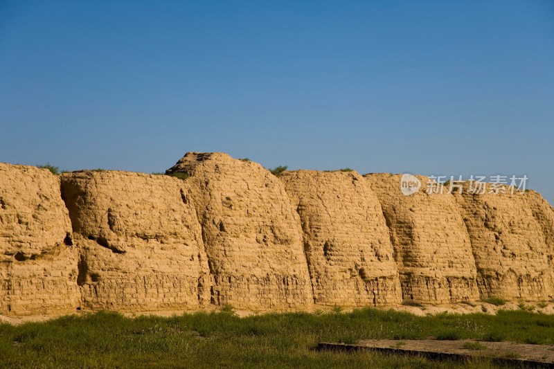
[[[478,191],[479,192],[479,191]],[[553,295],[551,207],[535,193],[504,187],[454,197],[472,242],[482,297],[548,300]]]

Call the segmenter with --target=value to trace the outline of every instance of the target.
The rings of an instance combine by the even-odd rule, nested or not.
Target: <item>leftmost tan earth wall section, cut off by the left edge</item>
[[[0,312],[73,311],[77,258],[60,178],[0,163]]]

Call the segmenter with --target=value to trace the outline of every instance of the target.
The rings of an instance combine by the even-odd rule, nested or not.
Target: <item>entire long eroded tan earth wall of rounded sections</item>
[[[0,163],[0,314],[260,311],[554,298],[535,191],[402,195],[400,175],[271,174],[187,153],[167,174]]]

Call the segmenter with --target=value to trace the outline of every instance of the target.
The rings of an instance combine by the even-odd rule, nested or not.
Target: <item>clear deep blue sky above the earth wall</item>
[[[0,161],[529,177],[554,204],[554,1],[3,1]]]

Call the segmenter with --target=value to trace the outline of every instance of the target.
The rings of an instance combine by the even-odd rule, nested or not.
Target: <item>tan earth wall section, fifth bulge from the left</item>
[[[402,297],[425,303],[479,298],[470,237],[449,193],[400,191],[400,174],[364,176],[381,201],[391,229]]]

